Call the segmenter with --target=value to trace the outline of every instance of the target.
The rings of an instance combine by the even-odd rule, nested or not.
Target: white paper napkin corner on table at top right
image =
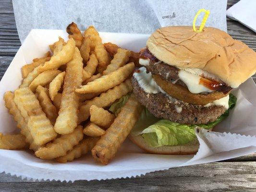
[[[227,16],[256,32],[256,0],[240,0],[227,10]]]

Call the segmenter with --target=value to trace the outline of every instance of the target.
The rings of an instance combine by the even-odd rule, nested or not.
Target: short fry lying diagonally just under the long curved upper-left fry
[[[61,71],[59,70],[48,70],[40,73],[29,85],[29,88],[35,92],[37,89],[37,86],[45,86],[46,84],[49,84],[58,74],[60,74]]]

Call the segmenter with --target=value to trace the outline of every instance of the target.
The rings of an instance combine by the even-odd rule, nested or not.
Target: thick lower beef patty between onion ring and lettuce
[[[223,106],[192,105],[163,93],[148,94],[133,77],[134,94],[155,117],[182,124],[206,124],[215,121],[226,108]]]

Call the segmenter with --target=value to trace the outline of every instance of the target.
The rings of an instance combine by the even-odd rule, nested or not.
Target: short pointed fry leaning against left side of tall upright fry
[[[54,100],[54,97],[58,94],[58,91],[61,89],[61,85],[64,82],[64,76],[66,72],[59,73],[49,84],[49,96],[51,100]]]

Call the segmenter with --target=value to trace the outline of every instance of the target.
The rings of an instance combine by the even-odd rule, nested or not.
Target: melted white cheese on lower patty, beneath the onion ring
[[[158,94],[158,93],[163,93],[169,96],[158,84],[154,81],[153,76],[151,72],[146,73],[146,68],[141,67],[139,68],[139,72],[134,72],[133,74],[134,78],[137,80],[139,86],[148,94]],[[170,99],[175,98],[169,96]],[[229,95],[225,96],[221,99],[215,100],[211,103],[208,103],[204,107],[209,107],[211,105],[219,105],[219,106],[224,106],[225,108],[229,108]],[[182,108],[179,106],[175,106],[175,109],[178,113],[182,112]],[[179,112],[180,111],[180,112]]]

